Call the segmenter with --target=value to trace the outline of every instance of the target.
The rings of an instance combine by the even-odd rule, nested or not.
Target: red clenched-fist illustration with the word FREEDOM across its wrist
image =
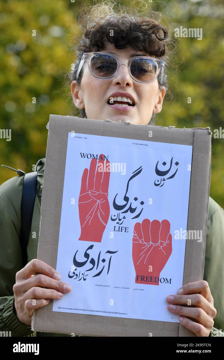
[[[144,219],[134,225],[132,259],[138,284],[159,285],[160,272],[172,253],[168,220]]]

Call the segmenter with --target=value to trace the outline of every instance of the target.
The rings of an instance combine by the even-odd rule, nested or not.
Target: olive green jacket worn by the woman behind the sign
[[[28,262],[37,258],[40,226],[41,194],[45,158],[37,166],[37,193],[33,210],[31,232],[27,247]],[[0,332],[11,336],[70,336],[67,334],[33,332],[14,314],[13,285],[15,274],[23,267],[19,243],[20,206],[23,176],[15,176],[0,186]],[[217,315],[210,336],[224,336],[224,211],[209,198],[209,214],[205,251],[204,280],[209,283]]]

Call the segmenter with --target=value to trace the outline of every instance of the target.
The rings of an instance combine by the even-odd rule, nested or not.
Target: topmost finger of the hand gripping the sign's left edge
[[[23,269],[19,270],[15,275],[15,281],[21,279],[28,279],[34,274],[44,274],[46,276],[49,276],[49,278],[52,279],[60,279],[59,273],[53,269],[50,265],[46,264],[46,262],[33,259],[28,262],[26,266],[23,267]]]

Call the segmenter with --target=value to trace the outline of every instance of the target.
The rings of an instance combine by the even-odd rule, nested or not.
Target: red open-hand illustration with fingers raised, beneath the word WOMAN
[[[104,155],[100,155],[98,165],[97,159],[92,159],[90,170],[84,169],[78,201],[81,225],[79,240],[99,243],[110,215],[108,201],[110,162],[102,160],[101,157],[103,159]]]

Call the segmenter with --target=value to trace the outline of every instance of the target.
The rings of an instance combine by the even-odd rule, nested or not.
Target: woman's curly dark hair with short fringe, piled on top
[[[141,1],[141,5],[144,1]],[[129,6],[102,1],[96,5],[84,4],[78,17],[78,25],[81,36],[73,37],[70,44],[72,53],[76,56],[73,70],[68,72],[67,86],[76,80],[76,74],[83,53],[102,51],[107,40],[114,44],[117,49],[131,47],[137,51],[145,51],[148,56],[165,60],[168,62],[168,44],[172,42],[168,36],[168,30],[161,25],[160,12],[151,10],[139,11],[136,1]],[[113,32],[111,32],[113,30]],[[111,33],[113,36],[111,36]],[[77,44],[78,43],[78,44]],[[77,84],[81,84],[82,69]],[[161,72],[157,77],[159,89],[164,86],[168,90],[166,67],[164,69],[163,83],[161,83]],[[87,118],[85,109],[81,109],[79,117]],[[153,125],[155,114],[152,114],[150,124]]]

